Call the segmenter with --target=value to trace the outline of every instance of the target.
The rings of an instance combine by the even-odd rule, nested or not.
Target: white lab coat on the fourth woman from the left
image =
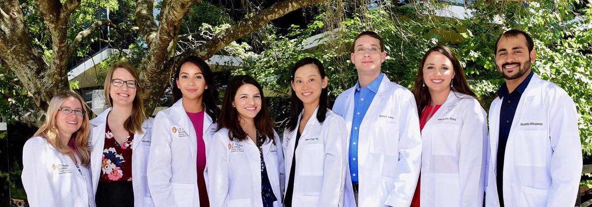
[[[262,207],[259,148],[250,138],[231,141],[228,132],[223,128],[214,134],[207,155],[210,206]],[[266,142],[262,151],[269,182],[278,199],[274,207],[279,207],[284,190],[284,154],[277,134],[274,139],[276,144]]]

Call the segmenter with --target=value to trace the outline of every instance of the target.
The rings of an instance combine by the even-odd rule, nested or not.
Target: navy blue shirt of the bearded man
[[[500,199],[500,207],[504,206],[504,192],[503,192],[503,173],[504,173],[504,155],[506,153],[506,143],[508,141],[508,136],[510,135],[510,128],[512,126],[512,121],[514,121],[514,114],[516,114],[516,108],[518,107],[518,102],[520,101],[520,97],[526,90],[530,79],[534,72],[531,70],[525,80],[522,81],[512,91],[512,93],[508,93],[508,87],[506,83],[502,84],[500,89],[497,90],[498,96],[501,98],[501,109],[500,109],[500,135],[497,147],[497,195]]]

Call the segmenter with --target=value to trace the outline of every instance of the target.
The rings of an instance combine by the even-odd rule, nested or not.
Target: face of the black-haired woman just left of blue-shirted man
[[[317,66],[307,64],[296,70],[291,84],[292,90],[304,104],[318,105],[321,90],[327,87],[327,77],[321,78]]]

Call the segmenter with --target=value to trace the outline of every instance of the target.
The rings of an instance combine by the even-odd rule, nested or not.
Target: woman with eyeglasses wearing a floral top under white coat
[[[146,166],[152,120],[146,119],[139,77],[115,63],[105,77],[109,108],[91,120],[91,174],[96,206],[152,206]]]

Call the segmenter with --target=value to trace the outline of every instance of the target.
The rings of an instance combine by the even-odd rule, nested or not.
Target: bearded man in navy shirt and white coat
[[[582,170],[575,104],[530,70],[533,47],[517,29],[496,41],[496,68],[506,81],[489,111],[487,207],[575,204]]]

